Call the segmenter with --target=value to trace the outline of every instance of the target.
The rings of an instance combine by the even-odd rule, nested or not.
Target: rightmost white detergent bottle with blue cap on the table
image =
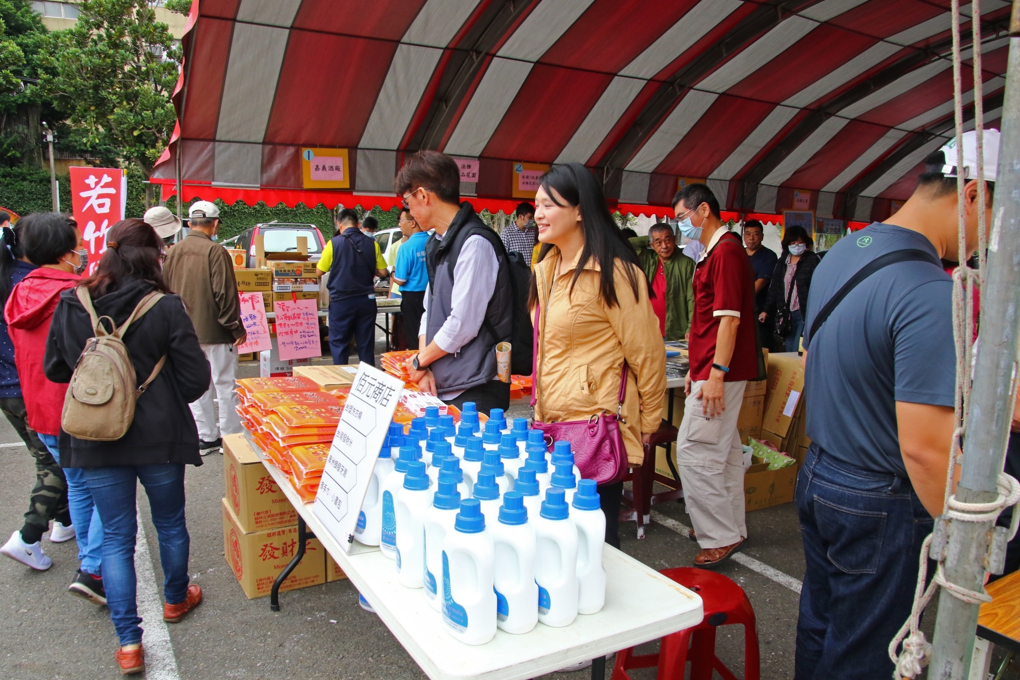
[[[606,515],[594,479],[577,482],[570,519],[577,527],[577,614],[595,614],[606,604],[606,568],[602,566]]]

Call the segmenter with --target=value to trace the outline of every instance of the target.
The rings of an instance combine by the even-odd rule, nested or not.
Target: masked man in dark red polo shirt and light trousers
[[[705,252],[695,269],[687,399],[676,441],[683,498],[701,552],[695,566],[714,568],[743,550],[744,454],[736,419],[748,380],[758,377],[755,290],[741,238],[719,215],[705,185],[673,197],[677,227]]]

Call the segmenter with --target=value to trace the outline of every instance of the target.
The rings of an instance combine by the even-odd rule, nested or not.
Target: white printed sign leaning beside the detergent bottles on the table
[[[340,416],[312,512],[347,553],[403,388],[400,378],[361,364]]]

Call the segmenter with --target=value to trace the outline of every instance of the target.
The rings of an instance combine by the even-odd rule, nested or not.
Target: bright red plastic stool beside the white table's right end
[[[712,671],[726,680],[736,680],[715,656],[716,626],[736,623],[744,625],[744,678],[759,680],[755,611],[741,586],[706,569],[679,567],[663,569],[662,573],[701,595],[705,618],[697,626],[662,638],[658,653],[634,656],[633,647],[617,652],[612,680],[630,680],[627,671],[652,666],[659,667],[656,680],[683,680],[687,661],[691,662],[691,680],[711,680]]]

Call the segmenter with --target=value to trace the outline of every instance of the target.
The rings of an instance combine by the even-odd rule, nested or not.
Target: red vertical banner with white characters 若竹
[[[128,176],[119,168],[71,167],[70,201],[78,228],[89,251],[91,275],[106,251],[106,232],[124,218]]]

